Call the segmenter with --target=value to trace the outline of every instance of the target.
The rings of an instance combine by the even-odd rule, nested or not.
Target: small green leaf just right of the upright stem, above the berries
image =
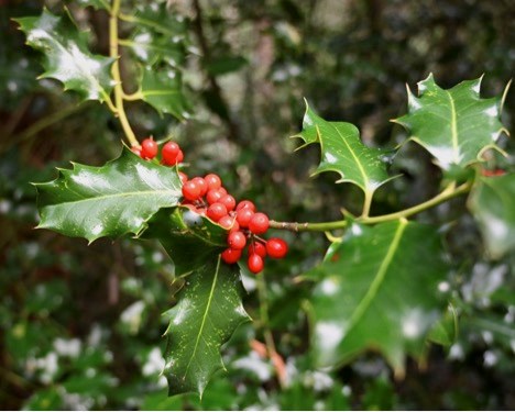
[[[145,67],[140,82],[142,100],[160,113],[169,113],[179,120],[188,118],[188,104],[182,83],[178,70],[156,71],[152,67]]]

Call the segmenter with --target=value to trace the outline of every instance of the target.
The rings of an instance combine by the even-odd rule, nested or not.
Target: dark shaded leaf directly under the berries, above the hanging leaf
[[[226,229],[184,207],[162,209],[144,236],[157,238],[174,261],[175,276],[185,276],[223,252],[227,234]]]

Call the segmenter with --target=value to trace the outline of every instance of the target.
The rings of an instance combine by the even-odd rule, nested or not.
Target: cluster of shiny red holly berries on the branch
[[[152,138],[145,138],[141,148],[132,148],[134,153],[145,159],[157,156],[158,146]],[[180,147],[175,142],[164,144],[162,163],[167,166],[176,165],[184,159]],[[269,216],[258,212],[250,200],[237,203],[235,199],[222,187],[219,176],[215,174],[205,177],[189,179],[186,174],[179,171],[183,182],[183,203],[193,212],[209,218],[229,233],[227,236],[228,248],[221,257],[227,264],[235,264],[243,255],[246,247],[249,270],[259,274],[264,268],[264,258],[283,258],[288,252],[288,245],[280,237],[264,240],[263,235],[269,230]]]

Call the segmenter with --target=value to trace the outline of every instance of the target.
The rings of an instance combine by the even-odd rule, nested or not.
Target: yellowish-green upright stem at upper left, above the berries
[[[139,146],[140,143],[132,131],[129,119],[127,118],[125,109],[123,108],[123,88],[120,75],[120,55],[118,51],[118,18],[120,14],[121,0],[113,0],[111,15],[109,18],[109,55],[114,59],[111,67],[111,76],[114,80],[114,105],[116,114],[120,120],[120,124],[125,133],[125,137],[131,146]]]

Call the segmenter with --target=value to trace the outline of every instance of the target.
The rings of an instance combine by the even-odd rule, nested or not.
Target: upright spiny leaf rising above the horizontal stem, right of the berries
[[[341,176],[337,182],[357,185],[370,197],[392,179],[386,171],[387,152],[365,146],[358,127],[346,122],[327,122],[307,102],[303,131],[293,137],[300,137],[304,146],[313,143],[320,145],[321,162],[315,174],[336,171]]]

